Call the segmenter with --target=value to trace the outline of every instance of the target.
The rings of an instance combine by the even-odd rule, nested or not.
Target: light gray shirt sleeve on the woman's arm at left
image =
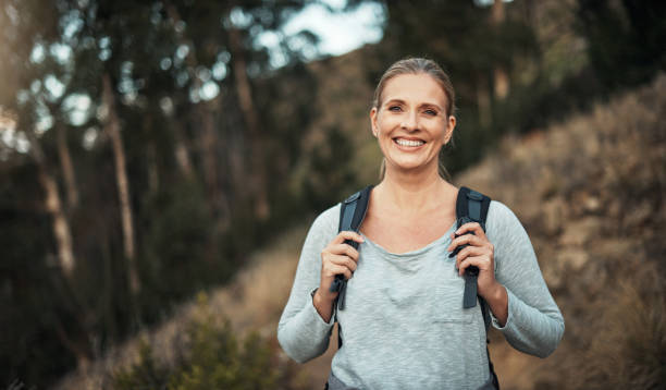
[[[300,252],[294,285],[278,325],[278,341],[298,363],[326,351],[334,318],[325,322],[312,303],[311,292],[321,278],[321,251],[337,234],[340,204],[322,212],[308,232]]]

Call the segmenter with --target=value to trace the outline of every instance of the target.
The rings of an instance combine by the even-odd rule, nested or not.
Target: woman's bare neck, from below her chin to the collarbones
[[[436,169],[406,172],[386,167],[384,180],[372,192],[391,209],[415,215],[440,207],[456,191]]]

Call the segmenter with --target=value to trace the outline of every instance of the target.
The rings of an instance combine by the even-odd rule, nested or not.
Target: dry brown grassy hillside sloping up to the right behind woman
[[[478,166],[455,178],[508,205],[528,230],[566,332],[547,359],[511,350],[497,333],[491,353],[503,389],[657,388],[666,381],[666,76],[592,112],[523,138],[505,138]],[[248,259],[226,288],[209,292],[210,310],[273,340],[289,293],[307,223]],[[137,356],[138,339],[161,361],[181,353],[196,316],[184,305],[170,320],[74,373],[58,389],[94,389]],[[334,332],[335,334],[335,332]],[[323,383],[336,340],[322,357],[297,367]],[[287,357],[281,354],[283,364]],[[293,367],[293,366],[292,366]],[[292,368],[293,369],[293,368]],[[564,375],[566,373],[566,375]]]

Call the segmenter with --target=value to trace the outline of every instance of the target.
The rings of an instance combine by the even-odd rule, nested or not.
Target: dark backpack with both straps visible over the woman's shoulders
[[[361,226],[366,212],[368,211],[368,200],[370,199],[370,191],[372,185],[365,187],[363,190],[349,196],[341,204],[340,208],[340,224],[337,228],[338,232],[342,231],[354,231],[358,233],[359,227]],[[488,209],[490,207],[491,198],[470,190],[468,187],[460,187],[458,191],[458,197],[456,199],[456,229],[468,222],[479,222],[483,231],[485,231],[485,218],[488,217]],[[466,233],[467,234],[467,233]],[[473,234],[473,233],[471,233]],[[358,249],[358,243],[351,240],[346,240],[345,244],[351,245],[355,249]],[[460,245],[448,256],[454,257],[460,252],[466,245]],[[483,324],[485,325],[485,332],[490,327],[491,318],[489,313],[488,304],[485,300],[477,294],[477,278],[479,276],[479,268],[471,266],[465,271],[465,291],[462,294],[462,307],[470,308],[477,305],[477,298],[481,306],[481,314],[483,315]],[[329,289],[331,292],[337,291],[337,297],[333,304],[335,321],[337,321],[337,310],[345,308],[345,291],[347,288],[347,281],[343,275],[336,275],[335,280],[331,283]],[[485,339],[486,344],[490,340]],[[340,322],[337,324],[337,348],[340,349],[343,344],[341,338]],[[493,364],[490,359],[490,352],[488,345],[485,348],[488,354],[488,364],[492,377],[492,383],[495,389],[499,389],[499,382],[497,375],[493,368]]]

